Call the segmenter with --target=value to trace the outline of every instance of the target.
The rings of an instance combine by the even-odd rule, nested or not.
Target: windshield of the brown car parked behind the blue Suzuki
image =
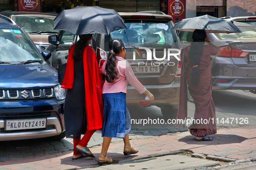
[[[54,28],[55,16],[13,16],[13,21],[21,26],[27,33],[36,31],[49,31],[58,33]]]

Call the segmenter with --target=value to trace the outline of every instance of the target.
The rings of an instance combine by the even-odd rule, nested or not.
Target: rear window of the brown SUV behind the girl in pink
[[[114,31],[107,38],[110,38],[110,41],[121,39],[126,47],[146,47],[146,44],[153,44],[156,49],[171,47],[174,42],[177,42],[175,31],[171,30],[170,22],[135,20],[126,21],[125,25],[128,30]]]

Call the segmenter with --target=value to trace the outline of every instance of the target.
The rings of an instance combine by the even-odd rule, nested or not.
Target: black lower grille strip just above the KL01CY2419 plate
[[[0,120],[24,120],[51,117],[51,112],[0,113]]]

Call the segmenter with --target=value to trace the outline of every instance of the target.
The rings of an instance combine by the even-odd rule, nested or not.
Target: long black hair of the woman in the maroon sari
[[[206,38],[206,33],[204,30],[201,30],[201,29],[194,30],[192,35],[193,41],[191,42],[190,50],[188,53],[190,63],[192,66],[194,66],[191,71],[191,79],[190,79],[191,84],[194,86],[197,86],[200,81],[198,65],[202,57],[205,38]]]

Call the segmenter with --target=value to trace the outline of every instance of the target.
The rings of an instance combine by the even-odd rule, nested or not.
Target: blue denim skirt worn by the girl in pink
[[[131,130],[130,114],[126,111],[126,93],[102,94],[104,121],[102,137],[124,138]],[[126,123],[127,122],[127,123]]]

